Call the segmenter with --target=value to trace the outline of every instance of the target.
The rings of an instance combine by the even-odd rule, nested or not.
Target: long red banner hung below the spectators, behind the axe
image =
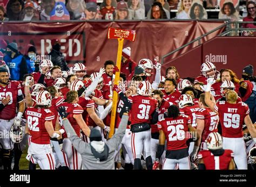
[[[107,39],[109,27],[136,31],[136,41],[126,40],[124,47],[131,47],[131,58],[138,62],[143,58],[160,60],[161,56],[222,24],[223,21],[8,22],[0,25],[0,35],[7,42],[17,42],[22,53],[26,53],[29,44],[35,45],[39,55],[48,55],[51,39],[59,39],[66,60],[71,63],[84,62],[89,73],[92,73],[99,70],[106,60],[116,61],[118,44],[115,40]],[[224,29],[210,34],[205,40],[215,37]],[[181,53],[192,47],[185,48]]]

